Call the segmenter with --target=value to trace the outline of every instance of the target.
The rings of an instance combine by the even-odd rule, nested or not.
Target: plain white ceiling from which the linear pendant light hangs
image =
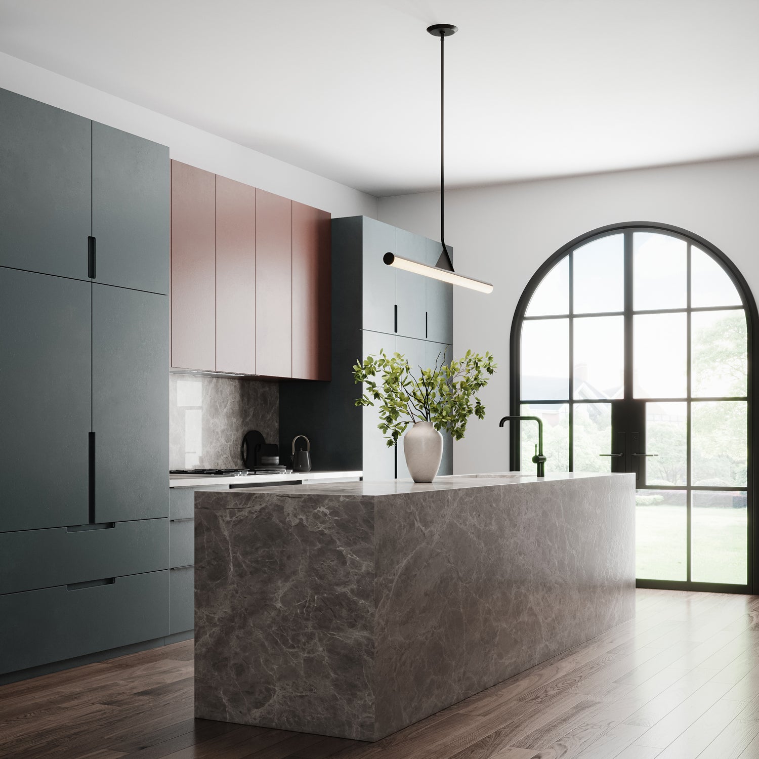
[[[0,50],[374,195],[759,153],[759,0],[0,0]]]

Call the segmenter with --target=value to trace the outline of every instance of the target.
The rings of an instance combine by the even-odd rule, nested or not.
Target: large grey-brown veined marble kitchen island
[[[195,715],[376,741],[635,613],[632,474],[195,494]]]

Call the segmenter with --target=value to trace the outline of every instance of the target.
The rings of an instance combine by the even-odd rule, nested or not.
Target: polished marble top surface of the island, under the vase
[[[235,488],[228,493],[276,493],[279,496],[395,496],[405,493],[434,493],[442,490],[467,490],[473,487],[499,487],[587,479],[590,477],[628,477],[610,472],[550,472],[545,477],[522,472],[488,472],[487,474],[451,474],[436,477],[434,482],[422,483],[405,480],[376,480],[361,482],[313,483],[280,485],[279,487]]]

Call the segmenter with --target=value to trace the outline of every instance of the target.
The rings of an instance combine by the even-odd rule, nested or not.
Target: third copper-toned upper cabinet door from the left
[[[256,190],[256,373],[292,376],[292,201]]]

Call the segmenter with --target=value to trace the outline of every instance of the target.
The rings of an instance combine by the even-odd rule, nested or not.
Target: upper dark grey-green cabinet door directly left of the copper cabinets
[[[93,121],[96,280],[168,294],[168,147]]]

